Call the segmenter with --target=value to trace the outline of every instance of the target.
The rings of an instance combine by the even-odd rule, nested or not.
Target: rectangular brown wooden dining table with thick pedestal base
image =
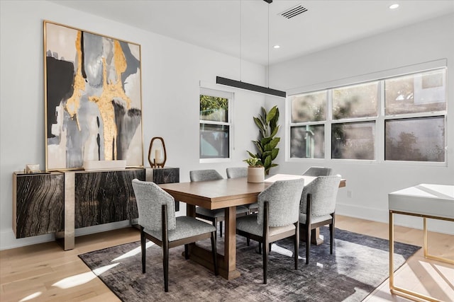
[[[236,269],[236,207],[253,204],[258,194],[269,187],[275,180],[304,178],[304,184],[316,177],[304,175],[273,175],[265,182],[248,182],[247,178],[229,178],[201,182],[175,182],[159,185],[172,195],[175,200],[187,204],[187,216],[196,216],[196,206],[206,209],[225,209],[225,235],[223,255],[218,253],[218,271],[226,279],[240,276]],[[339,187],[345,187],[341,180]],[[189,245],[189,259],[214,270],[211,251],[196,243]]]

